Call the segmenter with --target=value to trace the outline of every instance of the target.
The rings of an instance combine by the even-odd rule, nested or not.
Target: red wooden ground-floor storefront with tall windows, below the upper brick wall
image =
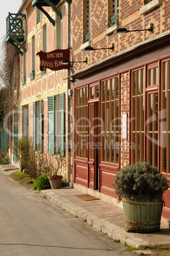
[[[170,183],[168,41],[169,34],[155,37],[73,75],[75,183],[117,198],[117,171],[143,160]],[[169,195],[162,213],[168,219]]]

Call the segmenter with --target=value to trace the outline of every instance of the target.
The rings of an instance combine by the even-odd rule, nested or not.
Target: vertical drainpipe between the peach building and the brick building
[[[67,48],[70,48],[70,4],[71,4],[71,0],[66,0],[67,2]],[[70,99],[68,96],[68,90],[70,89],[70,80],[69,80],[69,76],[70,76],[70,70],[67,69],[67,182],[70,181],[70,129],[69,129],[69,125],[70,125]]]

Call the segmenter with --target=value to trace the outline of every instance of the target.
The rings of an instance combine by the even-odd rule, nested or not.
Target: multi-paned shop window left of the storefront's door
[[[87,159],[88,87],[76,90],[76,144],[75,156]]]

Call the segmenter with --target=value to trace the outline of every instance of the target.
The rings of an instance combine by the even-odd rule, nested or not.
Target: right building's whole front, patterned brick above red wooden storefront
[[[169,20],[164,0],[72,1],[72,58],[87,58],[72,69],[74,183],[117,198],[115,174],[139,160],[170,182]]]

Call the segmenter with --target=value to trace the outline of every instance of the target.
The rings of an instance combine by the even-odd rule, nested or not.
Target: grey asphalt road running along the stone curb
[[[134,255],[0,172],[0,255]]]

